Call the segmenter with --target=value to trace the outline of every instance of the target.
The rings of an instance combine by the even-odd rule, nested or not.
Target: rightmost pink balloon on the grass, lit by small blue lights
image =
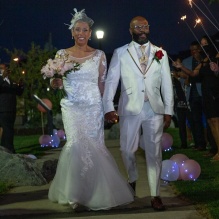
[[[195,160],[186,160],[179,168],[182,180],[196,180],[200,173],[201,167]]]

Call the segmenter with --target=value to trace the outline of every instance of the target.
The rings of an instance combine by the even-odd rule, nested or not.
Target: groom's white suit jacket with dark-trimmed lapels
[[[141,66],[133,42],[116,49],[113,53],[103,95],[104,112],[114,111],[113,99],[119,80],[121,94],[118,115],[137,115],[141,112],[145,89],[151,107],[158,114],[173,114],[173,86],[167,54],[149,42],[150,54],[146,74]],[[164,56],[159,63],[155,53],[162,50]]]

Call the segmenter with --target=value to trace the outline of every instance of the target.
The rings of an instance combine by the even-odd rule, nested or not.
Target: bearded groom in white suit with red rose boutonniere
[[[135,152],[141,130],[154,210],[165,210],[160,198],[161,137],[173,114],[173,90],[168,57],[148,41],[149,24],[141,16],[130,22],[132,42],[114,51],[103,96],[105,119],[120,119],[120,146],[128,180],[135,190],[138,179]],[[113,106],[121,81],[118,115]]]

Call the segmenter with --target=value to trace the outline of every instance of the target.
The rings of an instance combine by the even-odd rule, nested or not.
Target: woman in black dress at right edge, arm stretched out
[[[217,51],[212,46],[206,45],[203,49],[206,57],[193,71],[179,62],[175,62],[173,65],[181,68],[182,71],[191,77],[200,76],[204,112],[217,144],[217,152],[213,156],[212,161],[219,161],[219,59]]]

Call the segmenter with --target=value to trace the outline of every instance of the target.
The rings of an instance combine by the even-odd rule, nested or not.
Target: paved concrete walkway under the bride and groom
[[[126,177],[120,157],[119,141],[106,140],[106,145],[113,154],[121,173]],[[53,149],[45,155],[45,159],[59,156],[60,148]],[[156,212],[150,206],[150,197],[146,177],[144,153],[137,152],[139,180],[137,182],[137,198],[134,203],[107,211],[74,212],[69,206],[62,206],[47,199],[49,184],[44,186],[16,187],[8,194],[0,197],[0,218],[3,219],[204,219],[195,207],[176,196],[171,185],[162,183],[161,197],[167,210]]]

